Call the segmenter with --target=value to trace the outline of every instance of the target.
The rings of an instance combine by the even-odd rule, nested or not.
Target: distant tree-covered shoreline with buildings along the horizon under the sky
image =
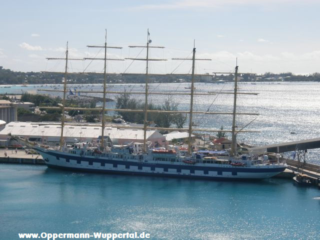
[[[144,73],[107,73],[107,84],[115,83],[140,83],[145,82]],[[20,72],[4,69],[0,66],[0,85],[22,85],[22,84],[61,84],[64,73],[55,72]],[[232,82],[233,73],[230,74],[197,74],[194,76],[196,82],[223,83]],[[152,74],[149,73],[150,83],[183,83],[190,82],[190,74]],[[239,82],[290,82],[290,81],[316,81],[320,82],[320,73],[314,72],[307,75],[295,75],[291,72],[272,73],[265,72],[261,75],[250,73],[239,73]],[[68,84],[101,84],[103,77],[101,73],[68,73]]]

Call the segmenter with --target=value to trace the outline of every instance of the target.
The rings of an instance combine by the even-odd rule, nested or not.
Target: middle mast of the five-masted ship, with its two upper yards
[[[128,46],[128,47],[146,47],[146,58],[125,58],[131,60],[143,60],[146,61],[145,69],[145,97],[144,97],[144,118],[143,118],[143,151],[146,152],[146,130],[147,130],[147,112],[148,112],[148,62],[149,61],[166,61],[166,59],[149,58],[149,47],[164,48],[164,46],[149,46],[151,43],[149,28],[147,29],[147,41],[145,46]]]

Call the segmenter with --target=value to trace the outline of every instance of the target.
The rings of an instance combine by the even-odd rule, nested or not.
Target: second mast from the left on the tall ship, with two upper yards
[[[90,60],[104,60],[104,70],[103,70],[103,103],[102,103],[102,110],[101,110],[101,141],[100,141],[100,149],[104,149],[104,127],[105,127],[105,95],[106,95],[106,60],[120,60],[123,61],[124,59],[115,59],[115,58],[107,58],[106,57],[106,48],[118,48],[121,49],[120,46],[106,46],[106,29],[105,29],[105,41],[104,46],[94,46],[94,45],[88,45],[87,47],[101,47],[104,48],[104,58],[90,58],[85,57],[84,59],[90,59]]]

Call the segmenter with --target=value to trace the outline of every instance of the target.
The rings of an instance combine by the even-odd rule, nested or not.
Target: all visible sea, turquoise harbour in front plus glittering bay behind
[[[152,83],[149,91],[187,91],[188,86]],[[16,85],[2,86],[0,93],[44,93],[37,89],[54,87],[62,89],[61,85]],[[68,87],[100,90],[101,84]],[[109,90],[128,92],[143,87],[108,85]],[[195,87],[199,93],[233,90],[231,83],[196,83]],[[320,82],[240,82],[238,88],[258,94],[239,94],[237,111],[259,113],[237,117],[239,128],[253,120],[244,129],[257,131],[238,133],[238,142],[259,146],[319,137]],[[143,101],[143,95],[131,96]],[[107,97],[115,99],[112,94]],[[162,104],[167,96],[150,94],[148,99]],[[170,101],[181,110],[189,107],[188,95],[172,95]],[[115,106],[114,101],[107,104]],[[232,94],[194,98],[198,111],[231,112],[232,104]],[[231,115],[195,114],[193,119],[197,127],[231,126]],[[319,149],[310,149],[307,161],[320,164],[319,156]],[[209,181],[0,164],[0,239],[41,232],[145,232],[149,239],[320,239],[320,190],[279,178]]]

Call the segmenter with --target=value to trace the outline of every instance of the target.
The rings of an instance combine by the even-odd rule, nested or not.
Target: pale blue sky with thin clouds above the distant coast
[[[14,71],[63,71],[69,57],[145,58],[151,73],[320,72],[319,0],[15,0],[1,1],[0,66]],[[103,71],[101,60],[70,60],[68,71]],[[144,61],[108,61],[108,72],[144,72]]]

